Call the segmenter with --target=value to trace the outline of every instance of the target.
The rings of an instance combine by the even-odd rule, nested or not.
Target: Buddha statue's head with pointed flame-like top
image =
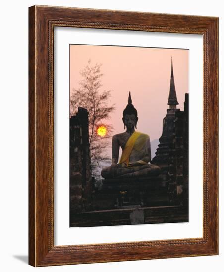
[[[124,129],[127,127],[127,129],[131,129],[135,127],[137,129],[137,122],[138,122],[138,112],[132,105],[132,100],[131,100],[131,92],[129,91],[129,96],[128,96],[128,104],[126,108],[123,111],[123,118],[124,122]]]

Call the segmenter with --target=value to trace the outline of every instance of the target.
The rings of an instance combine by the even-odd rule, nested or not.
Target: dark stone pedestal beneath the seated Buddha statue
[[[92,204],[95,210],[169,205],[168,187],[160,176],[105,179],[101,190],[95,190]]]

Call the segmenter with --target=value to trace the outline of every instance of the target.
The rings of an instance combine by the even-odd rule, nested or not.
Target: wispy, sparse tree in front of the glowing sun
[[[102,90],[101,73],[102,64],[93,65],[91,60],[86,67],[80,71],[82,80],[79,89],[73,88],[70,95],[70,116],[77,112],[78,106],[84,107],[89,112],[89,143],[92,170],[95,178],[100,178],[99,164],[109,160],[105,154],[110,145],[113,127],[108,123],[110,113],[115,109],[114,104],[109,104],[112,90]],[[105,136],[99,136],[97,129],[104,126],[107,129]]]

